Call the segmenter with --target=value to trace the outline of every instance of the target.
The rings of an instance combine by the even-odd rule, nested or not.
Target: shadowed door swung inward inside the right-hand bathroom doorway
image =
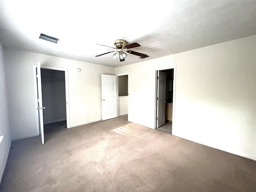
[[[156,128],[165,124],[166,73],[158,71]]]

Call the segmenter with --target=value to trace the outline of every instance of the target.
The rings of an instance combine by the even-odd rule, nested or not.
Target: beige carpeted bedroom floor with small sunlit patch
[[[121,116],[12,142],[1,192],[255,192],[256,161]]]

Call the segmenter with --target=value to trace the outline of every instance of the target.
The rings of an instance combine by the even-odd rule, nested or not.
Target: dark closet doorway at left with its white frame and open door
[[[38,110],[36,110],[36,132],[41,137],[44,136],[44,124],[60,122],[62,127],[70,128],[69,114],[69,94],[68,94],[68,69],[33,65],[34,71],[34,92],[35,106],[38,107],[38,81],[37,71],[40,68],[40,87],[42,91],[43,104],[43,123],[40,124]],[[40,124],[40,126],[39,126]],[[64,124],[64,125],[63,125]],[[57,124],[58,125],[58,124]],[[58,125],[59,126],[59,125]],[[40,132],[41,130],[41,132]],[[44,138],[42,138],[44,144]]]

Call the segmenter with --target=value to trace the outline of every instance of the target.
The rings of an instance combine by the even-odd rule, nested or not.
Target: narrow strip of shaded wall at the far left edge
[[[4,57],[2,53],[2,44],[0,42],[0,183],[12,142],[7,106]]]

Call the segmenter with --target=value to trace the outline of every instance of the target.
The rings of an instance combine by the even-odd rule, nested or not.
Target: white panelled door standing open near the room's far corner
[[[102,120],[117,117],[117,78],[101,74]]]

